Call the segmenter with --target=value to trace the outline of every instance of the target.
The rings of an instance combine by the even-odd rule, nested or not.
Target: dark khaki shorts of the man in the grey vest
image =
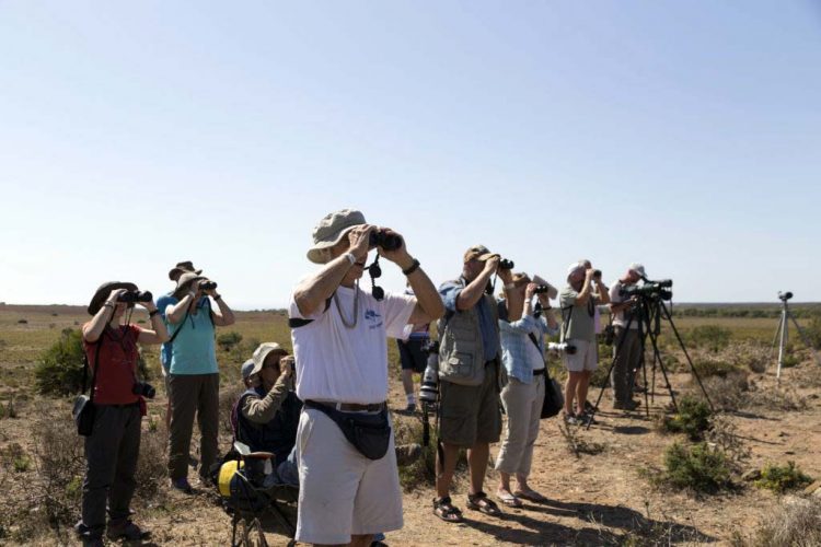
[[[485,365],[481,385],[439,384],[442,421],[440,439],[456,446],[499,442],[501,406],[497,382],[498,363]]]

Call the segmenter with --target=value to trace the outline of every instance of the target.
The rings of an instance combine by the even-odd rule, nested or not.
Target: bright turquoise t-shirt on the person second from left
[[[211,305],[208,296],[197,303],[197,313],[189,313],[183,323],[170,325],[169,334],[180,334],[171,345],[171,374],[216,374],[217,349]]]

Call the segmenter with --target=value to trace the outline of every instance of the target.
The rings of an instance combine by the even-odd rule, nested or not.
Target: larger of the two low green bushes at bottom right
[[[674,442],[664,451],[663,480],[677,488],[717,492],[732,486],[730,464],[720,449],[707,443],[684,446]]]

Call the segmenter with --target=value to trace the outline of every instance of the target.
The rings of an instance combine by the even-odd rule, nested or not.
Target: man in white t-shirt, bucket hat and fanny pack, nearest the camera
[[[444,313],[436,287],[390,229],[356,210],[326,216],[308,258],[323,267],[291,294],[289,324],[297,396],[305,404],[297,432],[297,539],[314,545],[370,545],[403,525],[393,431],[386,415],[386,337]],[[415,296],[359,288],[377,248],[407,276]],[[356,422],[354,431],[350,423]],[[362,432],[365,431],[365,435]]]

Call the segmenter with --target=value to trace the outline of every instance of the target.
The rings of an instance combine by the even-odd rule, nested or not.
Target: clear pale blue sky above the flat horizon
[[[818,301],[820,97],[809,0],[0,1],[0,301],[192,259],[281,306],[346,206],[437,283],[481,242]]]

